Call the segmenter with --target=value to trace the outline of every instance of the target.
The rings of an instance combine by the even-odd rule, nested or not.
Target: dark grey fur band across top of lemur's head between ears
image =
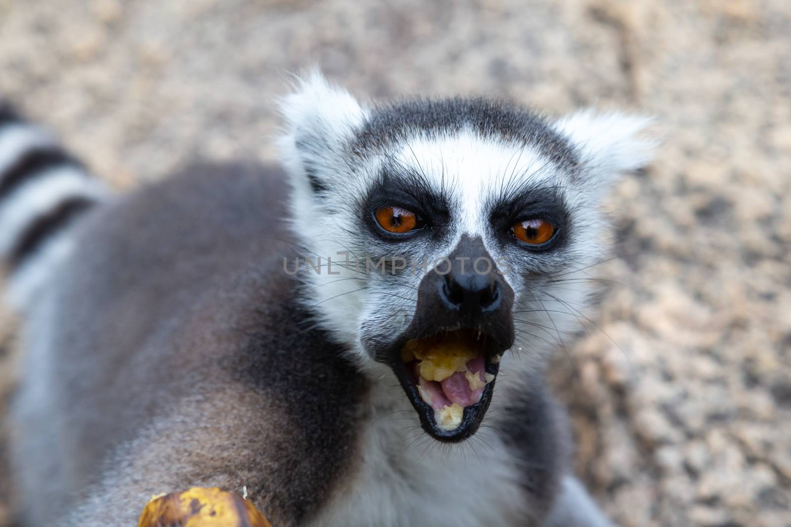
[[[382,150],[418,133],[431,136],[467,128],[483,137],[534,145],[567,168],[578,164],[570,142],[543,116],[516,104],[483,97],[410,99],[375,107],[358,131],[352,149],[360,153]]]

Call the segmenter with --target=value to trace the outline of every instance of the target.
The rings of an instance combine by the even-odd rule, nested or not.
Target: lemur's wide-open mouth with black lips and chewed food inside
[[[501,356],[472,329],[402,341],[392,365],[422,427],[442,441],[467,439],[489,408]]]

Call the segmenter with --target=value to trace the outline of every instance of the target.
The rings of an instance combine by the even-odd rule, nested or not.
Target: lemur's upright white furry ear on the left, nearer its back
[[[285,121],[278,141],[283,163],[293,179],[306,179],[314,192],[326,190],[343,162],[343,147],[365,119],[365,109],[312,70],[280,100],[280,111]]]

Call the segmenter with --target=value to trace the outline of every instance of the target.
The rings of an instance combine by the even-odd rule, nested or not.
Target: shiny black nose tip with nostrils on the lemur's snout
[[[464,314],[488,313],[500,307],[500,284],[494,273],[481,274],[475,269],[452,265],[439,295],[447,307]]]

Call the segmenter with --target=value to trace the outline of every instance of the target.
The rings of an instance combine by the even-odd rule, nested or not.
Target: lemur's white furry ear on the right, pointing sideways
[[[589,108],[560,119],[555,128],[570,138],[586,177],[606,184],[653,159],[659,141],[641,134],[652,121],[645,115],[597,114]]]

